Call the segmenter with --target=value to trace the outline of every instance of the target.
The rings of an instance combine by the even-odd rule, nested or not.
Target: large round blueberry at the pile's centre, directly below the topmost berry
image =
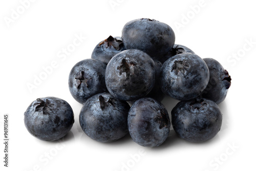
[[[124,50],[115,55],[106,66],[106,88],[123,101],[146,96],[154,87],[155,63],[145,52]]]

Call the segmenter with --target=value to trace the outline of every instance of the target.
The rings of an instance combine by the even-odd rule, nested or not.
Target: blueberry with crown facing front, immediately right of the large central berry
[[[177,100],[189,100],[206,88],[209,70],[198,55],[183,53],[163,63],[160,80],[163,93]]]

